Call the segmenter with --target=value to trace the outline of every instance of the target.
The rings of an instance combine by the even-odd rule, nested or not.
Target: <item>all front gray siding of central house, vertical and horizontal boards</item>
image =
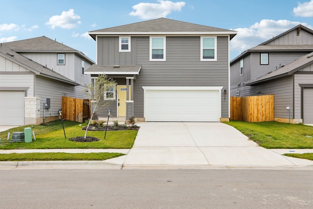
[[[142,86],[223,86],[228,92],[228,37],[218,37],[217,61],[210,62],[200,61],[200,36],[167,36],[166,61],[149,61],[149,36],[131,41],[131,52],[118,52],[118,37],[98,37],[97,64],[142,66],[134,82],[135,117],[144,116]],[[222,117],[228,117],[228,94],[221,97]]]

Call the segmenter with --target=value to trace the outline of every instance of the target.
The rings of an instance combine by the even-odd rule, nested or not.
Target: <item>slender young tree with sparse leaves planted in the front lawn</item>
[[[85,139],[87,137],[87,131],[90,125],[90,121],[95,115],[95,112],[108,108],[115,99],[116,82],[112,78],[108,78],[106,74],[101,74],[95,80],[84,88],[84,92],[88,95],[91,103],[90,108],[90,120],[85,132]]]

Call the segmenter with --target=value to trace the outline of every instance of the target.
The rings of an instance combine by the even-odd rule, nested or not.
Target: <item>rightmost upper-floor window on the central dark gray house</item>
[[[216,61],[216,37],[201,37],[201,61]]]

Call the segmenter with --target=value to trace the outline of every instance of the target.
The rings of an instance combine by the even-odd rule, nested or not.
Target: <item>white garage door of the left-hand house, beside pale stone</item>
[[[0,125],[24,125],[25,93],[0,91]]]

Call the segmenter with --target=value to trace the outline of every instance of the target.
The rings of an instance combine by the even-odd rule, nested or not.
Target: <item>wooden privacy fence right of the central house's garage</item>
[[[230,119],[247,122],[274,120],[274,95],[230,97]]]

